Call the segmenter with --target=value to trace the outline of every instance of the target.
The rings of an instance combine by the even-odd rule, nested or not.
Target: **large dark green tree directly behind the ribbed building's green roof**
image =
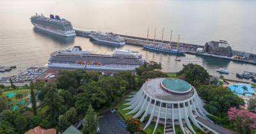
[[[183,65],[178,75],[184,75],[186,81],[193,86],[206,84],[209,81],[209,73],[202,66],[193,63]]]

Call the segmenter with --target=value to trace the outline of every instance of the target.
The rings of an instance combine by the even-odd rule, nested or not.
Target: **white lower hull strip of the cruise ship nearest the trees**
[[[96,65],[84,65],[84,64],[63,64],[63,63],[49,63],[47,64],[49,68],[70,68],[70,69],[87,69],[87,70],[113,70],[113,71],[135,71],[135,68],[138,66],[116,66],[113,65],[105,65],[105,66],[96,66]]]

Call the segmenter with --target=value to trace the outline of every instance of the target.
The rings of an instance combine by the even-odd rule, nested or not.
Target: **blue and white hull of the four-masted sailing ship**
[[[143,45],[143,48],[147,50],[153,50],[156,52],[163,52],[166,54],[182,54],[183,55],[186,52],[184,50],[171,48],[170,45],[165,45],[165,44],[148,44],[148,45]]]

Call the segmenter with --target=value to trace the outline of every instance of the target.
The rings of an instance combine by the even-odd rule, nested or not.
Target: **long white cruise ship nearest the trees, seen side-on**
[[[115,49],[113,54],[93,54],[76,46],[72,50],[53,52],[47,66],[49,68],[72,68],[86,70],[134,71],[145,62],[140,53]]]

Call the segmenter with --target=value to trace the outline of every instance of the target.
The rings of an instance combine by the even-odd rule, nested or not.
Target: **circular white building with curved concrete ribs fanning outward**
[[[179,125],[183,133],[195,133],[191,126],[193,123],[202,131],[207,128],[215,133],[202,123],[211,123],[211,120],[207,118],[209,113],[204,109],[195,88],[179,78],[148,80],[128,101],[125,105],[130,106],[124,110],[131,111],[127,114],[135,114],[134,117],[140,117],[140,121],[149,117],[144,130],[154,121],[154,132],[158,124],[164,124],[164,133],[175,133],[174,125]]]

